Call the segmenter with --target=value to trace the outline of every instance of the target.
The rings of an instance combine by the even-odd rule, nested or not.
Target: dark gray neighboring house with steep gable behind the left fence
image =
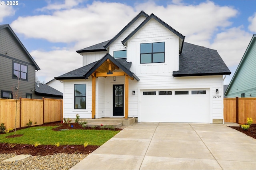
[[[35,98],[36,72],[40,70],[9,24],[0,25],[1,98],[13,99],[19,85],[19,97]],[[18,77],[20,81],[18,83]]]

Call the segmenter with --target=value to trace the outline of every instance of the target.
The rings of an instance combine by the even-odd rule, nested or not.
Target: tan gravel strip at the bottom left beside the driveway
[[[87,154],[88,155],[88,154]],[[0,169],[5,170],[69,170],[75,164],[84,159],[86,154],[65,154],[57,153],[47,156],[30,156],[28,158],[13,161],[2,162],[8,158],[17,156],[16,154],[0,154]]]

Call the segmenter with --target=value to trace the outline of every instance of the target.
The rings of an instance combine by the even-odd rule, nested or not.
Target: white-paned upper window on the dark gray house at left
[[[13,75],[12,78],[28,81],[28,65],[12,62]]]

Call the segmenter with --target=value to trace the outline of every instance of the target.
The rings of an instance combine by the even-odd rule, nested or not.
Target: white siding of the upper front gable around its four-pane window
[[[164,63],[143,63],[140,64],[141,43],[165,43]],[[153,18],[145,24],[127,43],[127,61],[132,61],[131,71],[136,75],[150,73],[172,73],[178,70],[179,40],[173,32]],[[132,50],[129,50],[132,49]]]

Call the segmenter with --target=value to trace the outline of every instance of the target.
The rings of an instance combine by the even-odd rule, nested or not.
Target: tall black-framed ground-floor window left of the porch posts
[[[75,109],[86,109],[86,84],[75,84]]]

